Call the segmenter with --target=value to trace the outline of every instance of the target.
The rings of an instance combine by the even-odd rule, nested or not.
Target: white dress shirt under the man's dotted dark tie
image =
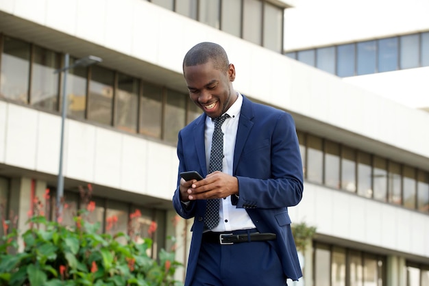
[[[241,105],[243,104],[243,96],[236,93],[238,98],[232,104],[230,109],[225,113],[230,117],[223,122],[221,126],[223,132],[223,172],[232,175],[232,166],[234,163],[234,148],[236,134],[238,129],[238,120],[240,119]],[[223,114],[222,114],[223,115]],[[215,129],[215,123],[212,118],[206,118],[206,131],[204,132],[204,141],[206,144],[206,162],[207,170],[210,162],[210,150],[212,148],[212,134]],[[242,208],[237,208],[231,204],[231,198],[221,199],[219,205],[219,224],[212,231],[235,231],[237,229],[254,229],[256,226],[252,219],[247,214],[247,211]]]

